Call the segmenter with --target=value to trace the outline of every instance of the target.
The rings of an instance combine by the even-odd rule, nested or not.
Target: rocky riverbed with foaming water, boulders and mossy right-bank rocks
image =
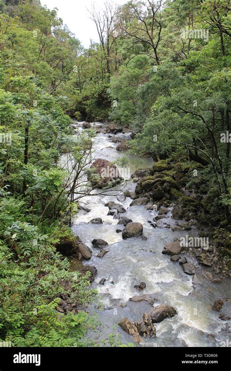
[[[123,156],[132,133],[90,126],[98,131],[95,159],[111,164]],[[224,346],[230,340],[229,278],[213,248],[182,246],[205,230],[193,220],[198,200],[190,200],[164,162],[127,158],[130,176],[110,195],[83,198],[73,221],[79,241],[70,261],[91,268],[102,303],[87,309],[101,322],[88,337],[97,342],[118,333],[122,343],[136,346]]]

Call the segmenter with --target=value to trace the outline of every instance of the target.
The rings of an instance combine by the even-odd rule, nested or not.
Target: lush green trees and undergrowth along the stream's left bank
[[[0,2],[0,10],[0,131],[11,139],[0,143],[0,340],[15,347],[87,346],[82,338],[93,319],[61,314],[57,306],[63,292],[79,306],[96,292],[89,274],[71,272],[55,248],[71,236],[64,143],[78,161],[82,156],[70,136],[63,88],[80,43],[39,2],[11,8]]]

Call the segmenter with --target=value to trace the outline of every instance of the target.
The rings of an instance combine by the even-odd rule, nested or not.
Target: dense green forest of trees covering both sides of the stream
[[[94,326],[54,311],[65,282],[83,304],[95,295],[55,248],[77,212],[61,154],[84,166],[95,135],[73,141],[72,119],[130,128],[130,151],[154,161],[193,162],[187,187],[229,250],[230,1],[106,1],[89,17],[99,41],[86,49],[56,9],[0,0],[0,340],[15,346],[86,345]]]

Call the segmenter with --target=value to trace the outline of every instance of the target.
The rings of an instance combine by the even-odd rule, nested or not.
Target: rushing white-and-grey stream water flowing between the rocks
[[[108,134],[98,134],[93,140],[95,157],[115,161],[123,156],[123,153],[116,151],[116,145],[110,141]],[[136,168],[152,166],[149,158],[128,156],[128,159],[131,174]],[[119,333],[124,344],[133,342],[117,324],[124,317],[131,321],[140,320],[144,312],[151,311],[152,307],[148,302],[129,301],[132,296],[140,294],[134,286],[143,281],[146,283],[146,289],[141,294],[156,299],[154,306],[173,306],[178,315],[155,324],[156,337],[142,338],[139,346],[214,347],[222,346],[222,341],[229,342],[229,321],[218,318],[221,313],[231,316],[230,301],[226,300],[231,297],[228,279],[220,284],[211,283],[203,274],[203,268],[197,260],[186,255],[188,261],[197,267],[197,283],[193,283],[193,276],[185,274],[178,263],[171,262],[170,256],[161,253],[166,243],[186,234],[184,231],[171,230],[170,227],[176,222],[171,217],[171,211],[165,219],[158,222],[159,227],[153,228],[148,221],[152,221],[157,212],[146,210],[145,206],[129,207],[132,199],[122,195],[125,189],[134,190],[135,183],[128,180],[114,188],[112,193],[115,194],[116,190],[117,197],[93,195],[83,199],[82,205],[91,211],[87,213],[80,210],[73,224],[73,232],[93,251],[93,257],[86,264],[95,266],[98,270],[92,288],[97,288],[103,304],[100,309],[97,306],[89,309],[97,314],[101,325],[96,331],[90,331],[88,336],[100,341],[111,333]],[[126,213],[121,216],[143,224],[147,241],[142,241],[140,237],[122,240],[122,234],[116,233],[116,229],[122,229],[122,226],[117,226],[118,220],[107,215],[109,208],[104,204],[108,201],[119,202],[126,208]],[[89,224],[89,221],[96,217],[102,218],[103,224]],[[196,229],[192,229],[190,234],[196,235]],[[99,250],[92,247],[91,241],[96,238],[102,238],[109,244],[109,252],[103,258],[98,258],[96,255]],[[106,282],[99,285],[102,278],[105,278]],[[218,299],[224,302],[220,312],[212,310],[212,305]]]

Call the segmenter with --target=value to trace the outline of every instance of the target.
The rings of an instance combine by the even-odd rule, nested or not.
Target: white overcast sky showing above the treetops
[[[115,0],[118,5],[125,4],[128,0]],[[40,0],[42,5],[49,9],[58,8],[58,17],[62,18],[63,24],[67,24],[69,30],[74,33],[84,47],[90,45],[90,39],[98,41],[96,26],[89,19],[87,8],[102,8],[105,0]]]

